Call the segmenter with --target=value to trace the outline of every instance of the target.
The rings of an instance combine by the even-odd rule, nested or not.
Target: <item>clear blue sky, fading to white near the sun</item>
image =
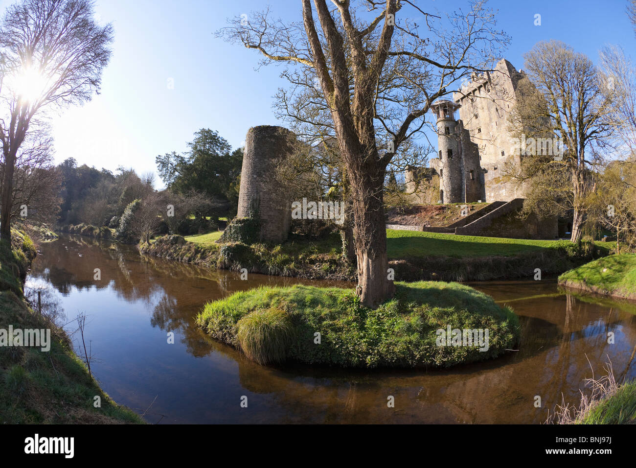
[[[0,0],[0,11],[10,3]],[[269,4],[284,20],[300,19],[300,0]],[[418,2],[431,13],[466,9],[467,4]],[[499,10],[498,27],[511,36],[504,56],[517,68],[523,67],[523,53],[544,39],[560,39],[595,61],[605,43],[623,45],[636,58],[626,0],[488,4]],[[104,71],[100,96],[53,118],[57,162],[72,156],[79,164],[134,167],[144,173],[155,171],[156,155],[185,150],[202,127],[238,147],[249,127],[282,124],[272,110],[273,94],[285,86],[280,67],[255,71],[258,53],[214,35],[226,18],[265,5],[256,0],[97,0],[99,20],[114,26],[113,59]],[[534,25],[536,13],[541,26]]]

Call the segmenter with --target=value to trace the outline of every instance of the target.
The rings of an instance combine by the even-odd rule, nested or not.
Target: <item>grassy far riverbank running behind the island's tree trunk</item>
[[[142,244],[147,255],[252,273],[325,280],[356,280],[342,257],[338,234],[322,239],[290,236],[282,245],[228,243],[221,232],[163,236]],[[607,243],[537,241],[387,230],[387,252],[396,280],[483,281],[557,275],[609,253]]]

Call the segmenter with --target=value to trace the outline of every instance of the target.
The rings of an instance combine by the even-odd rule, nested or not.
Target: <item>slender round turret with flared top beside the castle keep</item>
[[[439,162],[439,199],[442,203],[459,203],[464,201],[463,183],[464,167],[459,132],[462,130],[455,120],[458,104],[441,100],[431,105],[437,116]]]

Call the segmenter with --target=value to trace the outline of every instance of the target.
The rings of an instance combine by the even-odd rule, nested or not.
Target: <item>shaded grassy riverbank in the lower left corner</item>
[[[88,374],[64,330],[35,313],[22,283],[36,255],[27,236],[0,242],[0,323],[3,329],[50,329],[50,350],[0,346],[0,423],[142,423],[116,404]],[[95,396],[101,408],[95,408]]]

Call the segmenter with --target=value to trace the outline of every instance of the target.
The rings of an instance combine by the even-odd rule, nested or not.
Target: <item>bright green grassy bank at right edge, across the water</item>
[[[563,273],[558,282],[586,292],[636,300],[636,253],[594,260]]]

